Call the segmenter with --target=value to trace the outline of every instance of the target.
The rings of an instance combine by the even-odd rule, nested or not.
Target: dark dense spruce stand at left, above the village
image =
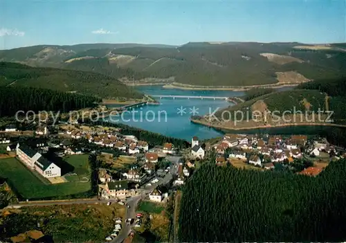
[[[66,112],[84,107],[93,107],[99,102],[93,96],[37,89],[30,87],[0,86],[0,116],[14,116],[17,111]]]

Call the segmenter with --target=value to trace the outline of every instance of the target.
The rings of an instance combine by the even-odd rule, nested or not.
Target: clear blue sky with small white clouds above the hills
[[[0,0],[0,49],[187,42],[346,42],[346,0]]]

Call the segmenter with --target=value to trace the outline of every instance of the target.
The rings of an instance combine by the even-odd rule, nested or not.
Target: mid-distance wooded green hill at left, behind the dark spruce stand
[[[37,68],[12,62],[0,62],[0,86],[52,89],[100,98],[142,98],[143,96],[115,78],[100,73]]]

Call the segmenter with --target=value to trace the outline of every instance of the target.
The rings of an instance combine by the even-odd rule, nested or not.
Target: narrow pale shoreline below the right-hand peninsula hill
[[[203,125],[206,127],[211,127],[214,129],[221,130],[233,130],[233,131],[243,131],[243,130],[253,130],[253,129],[266,129],[266,128],[277,128],[277,127],[298,127],[298,126],[325,126],[325,127],[346,127],[346,125],[334,124],[334,123],[287,123],[282,125],[267,125],[267,126],[256,126],[256,127],[242,127],[242,128],[230,128],[230,127],[221,127],[217,125],[210,125],[208,123],[203,123],[199,120],[194,120],[190,118],[190,121],[195,124]]]

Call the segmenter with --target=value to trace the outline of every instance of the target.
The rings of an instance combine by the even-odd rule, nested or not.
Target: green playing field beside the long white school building
[[[82,155],[80,157],[83,161],[85,158],[87,161],[87,155]],[[91,189],[90,182],[83,183],[80,181],[45,185],[15,158],[0,159],[0,177],[8,178],[10,185],[15,187],[14,189],[17,190],[24,199],[64,197],[66,195],[87,192]]]

